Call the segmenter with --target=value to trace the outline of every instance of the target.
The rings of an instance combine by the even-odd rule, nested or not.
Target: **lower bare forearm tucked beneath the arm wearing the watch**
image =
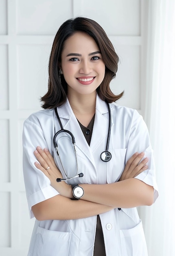
[[[95,216],[111,209],[113,207],[104,204],[71,200],[61,195],[56,195],[32,207],[37,220],[74,220]]]

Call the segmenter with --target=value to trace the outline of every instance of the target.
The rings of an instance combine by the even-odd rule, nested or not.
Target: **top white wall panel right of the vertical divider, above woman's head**
[[[140,35],[140,0],[84,0],[77,5],[81,8],[75,9],[74,16],[96,20],[110,36]]]

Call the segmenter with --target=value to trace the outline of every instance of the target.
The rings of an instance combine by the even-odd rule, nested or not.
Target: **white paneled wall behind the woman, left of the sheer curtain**
[[[53,38],[85,16],[107,32],[120,57],[111,88],[118,103],[144,113],[147,1],[0,0],[0,256],[25,256],[33,229],[22,174],[22,126],[47,90]]]

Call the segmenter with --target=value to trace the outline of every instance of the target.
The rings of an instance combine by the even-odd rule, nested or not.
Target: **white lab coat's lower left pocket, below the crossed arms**
[[[42,227],[37,228],[37,238],[35,242],[33,256],[69,256],[69,249],[71,246],[71,233],[60,232],[44,229]],[[74,241],[73,241],[74,242]],[[73,243],[75,245],[75,243]],[[76,255],[75,246],[74,252]]]

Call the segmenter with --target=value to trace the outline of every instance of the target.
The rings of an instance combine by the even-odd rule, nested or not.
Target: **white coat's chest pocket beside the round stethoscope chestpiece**
[[[127,148],[109,148],[112,159],[107,162],[107,183],[116,182],[120,179],[125,168],[125,155]]]

